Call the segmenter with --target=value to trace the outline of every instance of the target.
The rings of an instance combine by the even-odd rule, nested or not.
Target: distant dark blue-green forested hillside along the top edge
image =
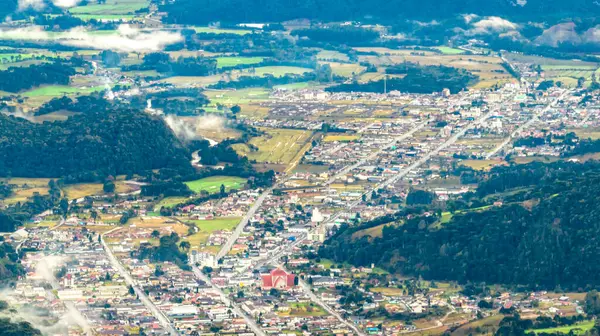
[[[528,0],[524,6],[515,0],[177,0],[161,10],[176,23],[206,24],[224,22],[281,22],[292,19],[323,21],[363,20],[366,16],[393,20],[432,20],[461,14],[506,16],[539,20],[590,17],[600,6],[594,0]]]

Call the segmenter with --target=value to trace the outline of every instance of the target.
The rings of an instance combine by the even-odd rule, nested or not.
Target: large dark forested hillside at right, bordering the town
[[[457,213],[440,228],[436,216],[418,216],[374,238],[353,237],[369,223],[342,228],[319,254],[426,279],[600,288],[599,185],[599,163],[495,169],[477,195],[521,190],[501,207]]]

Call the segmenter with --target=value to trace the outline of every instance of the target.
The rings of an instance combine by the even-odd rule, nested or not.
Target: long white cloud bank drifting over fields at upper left
[[[78,27],[63,33],[50,35],[40,27],[18,28],[0,30],[0,38],[54,41],[73,47],[124,52],[159,51],[166,45],[183,39],[178,32],[145,32],[129,25],[121,25],[115,34],[94,34]]]

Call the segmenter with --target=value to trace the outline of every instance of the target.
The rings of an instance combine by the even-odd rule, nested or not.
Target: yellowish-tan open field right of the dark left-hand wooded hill
[[[290,164],[304,149],[312,133],[310,131],[267,128],[261,129],[266,134],[252,138],[250,144],[258,150],[252,150],[245,144],[232,147],[250,160],[266,163]]]

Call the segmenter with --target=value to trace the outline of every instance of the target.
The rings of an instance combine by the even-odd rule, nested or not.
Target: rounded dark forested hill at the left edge
[[[115,107],[44,124],[0,114],[0,176],[95,180],[159,168],[192,169],[168,126],[141,111]]]

